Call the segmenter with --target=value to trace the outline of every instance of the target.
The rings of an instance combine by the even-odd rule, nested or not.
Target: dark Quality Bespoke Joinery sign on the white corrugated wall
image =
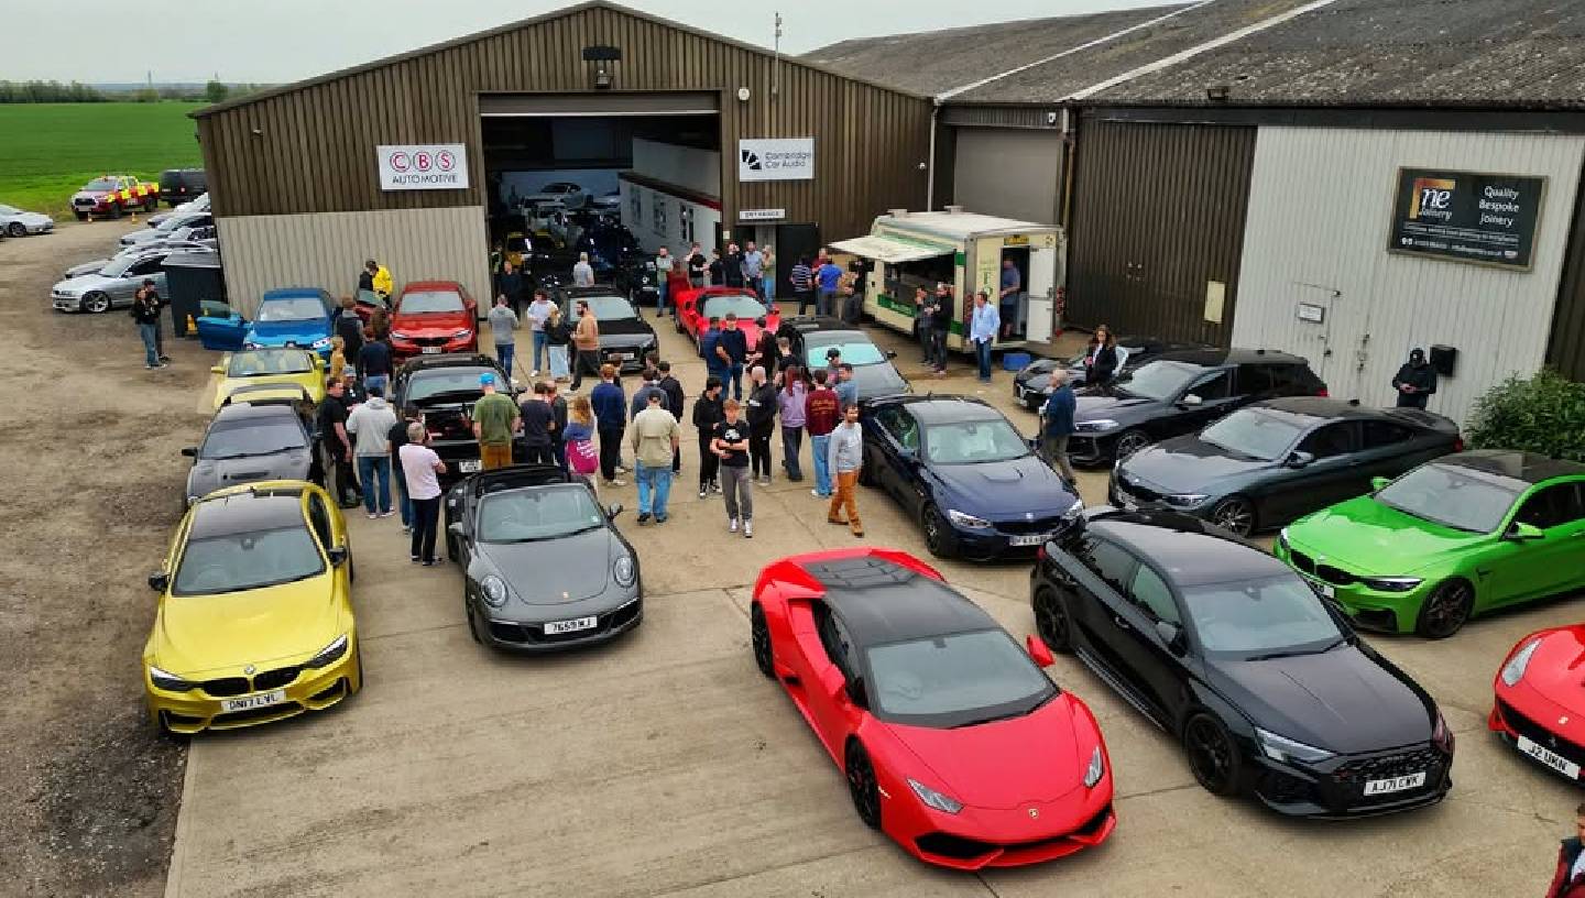
[[[1530,271],[1547,179],[1398,169],[1387,250]]]

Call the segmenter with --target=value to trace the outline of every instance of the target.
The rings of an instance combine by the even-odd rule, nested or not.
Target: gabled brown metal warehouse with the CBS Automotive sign
[[[620,193],[648,245],[799,253],[927,198],[929,98],[593,2],[195,112],[230,296],[398,282],[488,295],[521,193]],[[601,190],[605,192],[605,190]]]

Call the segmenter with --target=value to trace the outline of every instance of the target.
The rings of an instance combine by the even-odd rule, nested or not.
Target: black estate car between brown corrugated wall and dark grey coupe
[[[1110,464],[1157,440],[1192,434],[1251,402],[1325,394],[1327,385],[1297,355],[1239,348],[1167,353],[1106,386],[1079,391],[1068,458]]]

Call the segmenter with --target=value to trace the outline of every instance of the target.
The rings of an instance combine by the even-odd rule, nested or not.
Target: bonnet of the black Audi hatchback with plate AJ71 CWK
[[[1211,665],[1213,683],[1257,727],[1339,754],[1431,738],[1433,714],[1409,678],[1357,646]]]

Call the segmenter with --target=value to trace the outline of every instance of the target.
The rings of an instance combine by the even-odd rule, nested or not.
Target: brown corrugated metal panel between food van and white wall
[[[1111,122],[1086,112],[1073,165],[1064,320],[1228,345],[1255,128]],[[1209,285],[1225,285],[1220,322]]]

